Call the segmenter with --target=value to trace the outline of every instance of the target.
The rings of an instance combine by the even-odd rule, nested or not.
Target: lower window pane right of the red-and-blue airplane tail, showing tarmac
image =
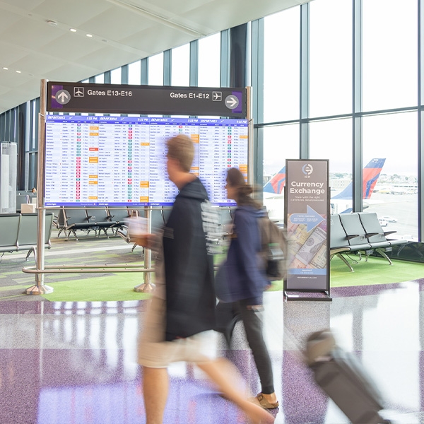
[[[384,158],[385,163],[366,211],[379,218],[390,216],[385,231],[390,237],[418,240],[417,113],[386,114],[363,118],[363,160]],[[399,148],[401,146],[401,148]]]

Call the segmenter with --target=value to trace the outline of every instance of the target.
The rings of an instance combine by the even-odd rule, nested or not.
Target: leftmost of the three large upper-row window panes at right
[[[299,119],[300,8],[264,18],[264,122]]]

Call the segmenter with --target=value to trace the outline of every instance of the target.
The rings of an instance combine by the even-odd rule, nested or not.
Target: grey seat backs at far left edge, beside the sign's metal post
[[[51,247],[53,213],[45,214],[45,247]],[[1,213],[0,214],[0,252],[18,252],[28,250],[26,259],[34,252],[37,260],[37,213]]]

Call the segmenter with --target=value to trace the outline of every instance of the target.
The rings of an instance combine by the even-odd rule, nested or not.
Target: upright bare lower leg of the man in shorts
[[[162,424],[168,394],[167,368],[143,367],[143,397],[146,424]]]

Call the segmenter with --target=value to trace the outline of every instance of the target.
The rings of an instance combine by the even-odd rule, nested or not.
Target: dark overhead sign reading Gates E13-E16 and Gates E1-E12
[[[47,83],[47,112],[212,115],[245,118],[246,88]]]

